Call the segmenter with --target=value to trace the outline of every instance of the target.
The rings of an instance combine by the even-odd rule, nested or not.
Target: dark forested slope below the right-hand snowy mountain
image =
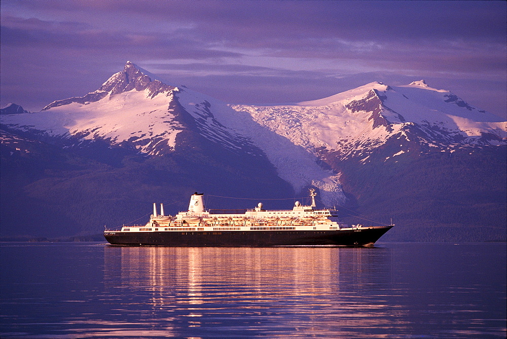
[[[383,241],[506,240],[505,146],[409,152],[385,160],[388,148],[366,164],[331,163],[343,173],[347,208],[385,223],[393,219],[396,227]]]

